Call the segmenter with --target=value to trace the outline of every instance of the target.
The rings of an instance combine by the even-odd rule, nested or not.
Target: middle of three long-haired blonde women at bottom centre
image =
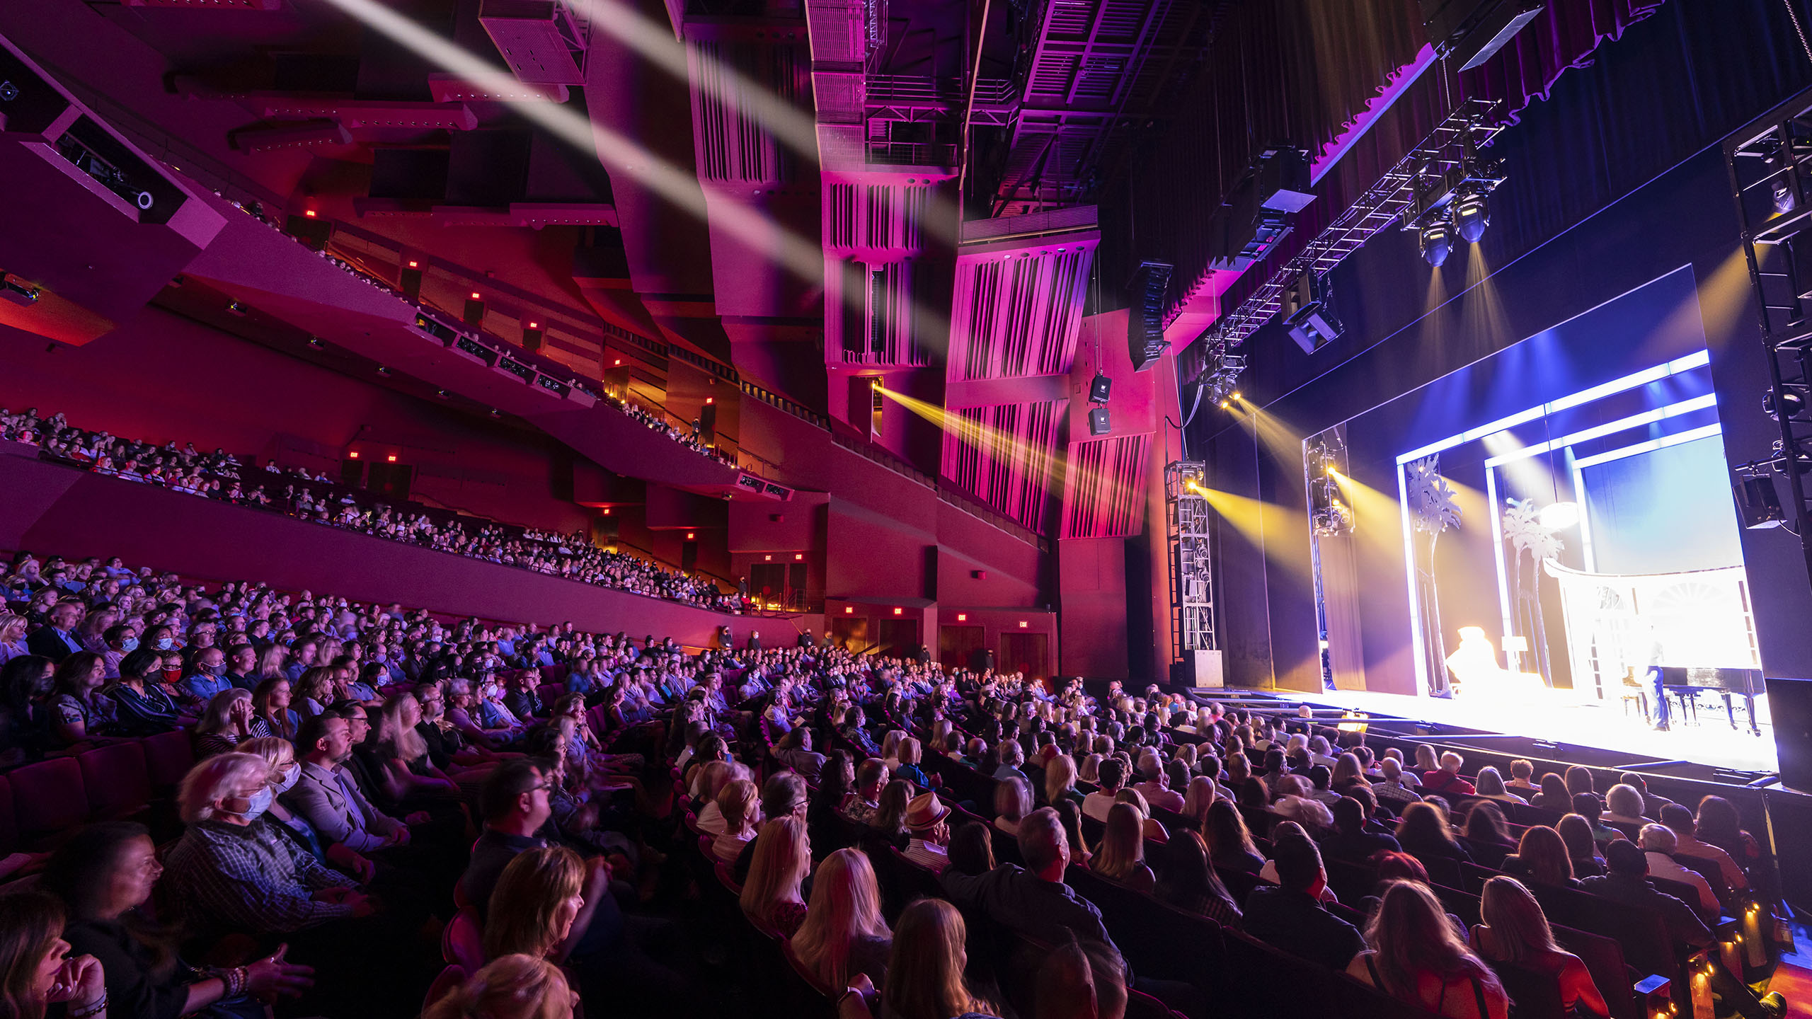
[[[886,985],[893,932],[881,919],[881,888],[866,854],[839,849],[824,858],[812,878],[805,923],[790,945],[824,986],[850,986],[857,974]]]

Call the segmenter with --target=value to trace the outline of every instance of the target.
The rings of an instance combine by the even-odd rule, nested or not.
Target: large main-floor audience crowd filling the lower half
[[[1466,774],[1156,687],[29,553],[5,600],[5,763],[187,731],[194,765],[170,814],[0,863],[0,1015],[795,1014],[748,994],[776,972],[844,1019],[1225,1014],[1234,988],[1122,952],[1149,943],[1129,901],[1406,1015],[1506,1019],[1531,974],[1605,1015],[1631,986],[1560,937],[1555,890],[1653,910],[1682,952],[1774,898],[1718,796]],[[1462,865],[1489,872],[1470,925]]]

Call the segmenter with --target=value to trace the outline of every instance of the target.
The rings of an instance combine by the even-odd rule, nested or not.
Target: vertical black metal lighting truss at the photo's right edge
[[[1772,488],[1772,475],[1787,479],[1790,495],[1779,499],[1781,510],[1796,524],[1812,573],[1812,504],[1807,502],[1812,497],[1812,421],[1805,413],[1805,397],[1812,393],[1812,89],[1727,138],[1723,158],[1749,283],[1761,308],[1761,345],[1769,354],[1763,413],[1779,424],[1769,457],[1736,468],[1738,488],[1758,479]]]

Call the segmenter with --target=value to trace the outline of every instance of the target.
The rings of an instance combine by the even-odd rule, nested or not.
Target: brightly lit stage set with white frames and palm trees
[[[1335,689],[1277,696],[1631,763],[1778,769],[1689,270],[1310,435],[1301,457]]]

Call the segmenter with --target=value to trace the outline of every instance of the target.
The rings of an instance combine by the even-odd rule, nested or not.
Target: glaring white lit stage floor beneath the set
[[[1212,696],[1210,691],[1200,693]],[[1513,700],[1470,702],[1464,694],[1453,700],[1437,700],[1368,691],[1239,693],[1388,714],[1392,718],[1460,725],[1486,733],[1529,736],[1555,743],[1576,743],[1602,751],[1627,752],[1631,760],[1689,760],[1730,771],[1779,771],[1779,758],[1774,749],[1774,727],[1767,718],[1767,698],[1756,698],[1756,714],[1761,716],[1761,736],[1754,736],[1747,727],[1732,731],[1723,707],[1720,705],[1716,711],[1711,711],[1709,700],[1705,702],[1707,707],[1700,709],[1696,725],[1682,725],[1676,720],[1671,733],[1656,733],[1642,720],[1642,714],[1634,707],[1625,714],[1618,704],[1580,704],[1569,691],[1544,689],[1533,696]],[[1741,709],[1738,709],[1738,725],[1743,725],[1743,722]]]

